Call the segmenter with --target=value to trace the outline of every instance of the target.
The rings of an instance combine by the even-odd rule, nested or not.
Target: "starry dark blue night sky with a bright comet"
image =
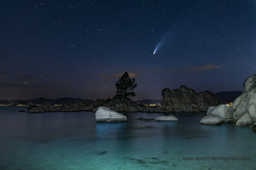
[[[256,1],[0,0],[0,99],[112,97],[124,71],[134,100],[242,90]]]

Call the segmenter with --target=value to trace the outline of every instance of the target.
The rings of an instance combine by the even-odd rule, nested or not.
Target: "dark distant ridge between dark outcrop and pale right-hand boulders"
[[[242,91],[221,91],[214,94],[217,97],[221,104],[234,102],[237,97],[241,95]]]

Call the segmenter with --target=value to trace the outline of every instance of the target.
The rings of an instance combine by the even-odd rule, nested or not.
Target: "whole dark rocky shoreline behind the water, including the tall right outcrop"
[[[115,98],[107,100],[96,100],[95,102],[76,101],[73,103],[64,103],[63,105],[54,105],[43,102],[40,106],[31,101],[28,102],[29,113],[40,112],[58,112],[58,111],[93,111],[96,112],[100,106],[110,108],[117,112],[199,112],[207,111],[209,106],[216,106],[219,101],[209,91],[195,93],[194,90],[182,85],[180,89],[170,91],[165,88],[162,91],[163,102],[161,106],[139,105],[129,98]]]

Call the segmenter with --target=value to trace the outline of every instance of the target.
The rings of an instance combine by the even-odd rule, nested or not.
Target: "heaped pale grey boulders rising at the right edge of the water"
[[[244,81],[242,94],[236,98],[233,106],[209,107],[207,116],[200,121],[204,125],[227,122],[234,122],[236,126],[249,126],[256,122],[256,74]]]

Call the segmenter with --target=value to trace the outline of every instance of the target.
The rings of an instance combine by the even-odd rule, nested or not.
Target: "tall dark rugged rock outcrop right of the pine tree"
[[[210,106],[219,105],[219,100],[209,91],[196,93],[185,85],[179,89],[170,91],[165,88],[162,91],[163,102],[161,109],[169,112],[199,112],[207,111]]]

